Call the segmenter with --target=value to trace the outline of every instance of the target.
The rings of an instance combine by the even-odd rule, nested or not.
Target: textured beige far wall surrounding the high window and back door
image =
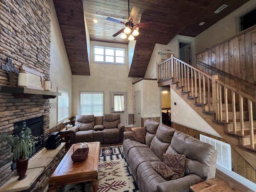
[[[80,91],[99,91],[104,92],[104,113],[110,113],[110,92],[128,92],[128,113],[134,113],[133,110],[133,89],[132,82],[137,78],[128,78],[128,58],[126,57],[126,65],[99,64],[92,62],[92,44],[102,44],[104,46],[122,46],[128,48],[127,45],[108,44],[103,42],[91,41],[91,60],[90,60],[90,76],[72,77],[72,115],[76,116],[79,112],[79,92]]]

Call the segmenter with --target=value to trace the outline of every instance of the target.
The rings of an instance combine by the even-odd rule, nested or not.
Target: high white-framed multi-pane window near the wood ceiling
[[[125,51],[122,48],[94,46],[94,62],[124,65]]]

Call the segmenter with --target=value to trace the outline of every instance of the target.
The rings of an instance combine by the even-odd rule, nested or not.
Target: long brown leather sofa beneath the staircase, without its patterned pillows
[[[189,187],[215,177],[217,151],[173,128],[147,119],[146,144],[129,139],[124,132],[124,156],[141,192],[189,192]],[[152,167],[163,161],[163,154],[186,154],[185,176],[167,181]]]

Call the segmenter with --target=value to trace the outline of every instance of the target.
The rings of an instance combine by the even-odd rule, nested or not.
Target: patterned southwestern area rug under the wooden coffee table
[[[122,146],[100,148],[98,192],[140,192]],[[58,192],[93,192],[90,182],[66,185]]]

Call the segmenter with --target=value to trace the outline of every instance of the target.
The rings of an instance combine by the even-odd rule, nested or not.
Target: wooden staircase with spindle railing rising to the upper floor
[[[173,55],[158,66],[159,80],[171,78],[170,88],[256,169],[256,99]]]

